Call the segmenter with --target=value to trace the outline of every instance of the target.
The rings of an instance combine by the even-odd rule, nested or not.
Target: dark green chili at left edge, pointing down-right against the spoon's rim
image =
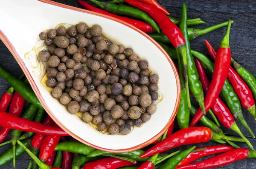
[[[0,76],[2,76],[3,79],[5,79],[18,93],[20,93],[20,96],[22,96],[26,101],[36,105],[38,108],[44,109],[34,91],[1,66]]]

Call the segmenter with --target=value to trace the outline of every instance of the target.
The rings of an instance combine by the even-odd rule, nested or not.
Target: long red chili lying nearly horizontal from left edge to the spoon
[[[9,113],[0,112],[0,126],[9,129],[21,130],[24,132],[35,132],[46,135],[69,136],[67,132],[60,127],[46,126],[44,124],[29,121],[25,118],[19,118]]]

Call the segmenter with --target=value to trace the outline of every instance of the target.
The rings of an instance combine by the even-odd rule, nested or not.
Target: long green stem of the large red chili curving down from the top
[[[189,80],[188,80],[188,66],[187,66],[187,51],[186,51],[186,44],[180,45],[178,50],[182,56],[183,60],[183,71],[184,71],[184,79],[185,79],[185,87],[186,87],[186,97],[188,102],[188,108],[191,109],[191,101],[189,95]]]

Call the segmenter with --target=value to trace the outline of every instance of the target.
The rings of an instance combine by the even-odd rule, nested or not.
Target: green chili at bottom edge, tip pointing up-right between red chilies
[[[175,169],[176,166],[184,159],[186,158],[190,152],[192,152],[195,149],[195,146],[192,146],[189,149],[183,150],[179,154],[173,156],[172,158],[169,158],[169,160],[160,167],[160,169]]]

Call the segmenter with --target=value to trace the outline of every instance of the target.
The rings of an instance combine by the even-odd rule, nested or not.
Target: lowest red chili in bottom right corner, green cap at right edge
[[[177,169],[209,169],[224,166],[244,158],[256,158],[256,153],[245,148],[233,149],[198,163],[178,166]]]

